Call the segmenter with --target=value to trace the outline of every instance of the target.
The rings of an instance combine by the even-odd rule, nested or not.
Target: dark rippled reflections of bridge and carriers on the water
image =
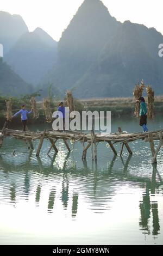
[[[157,236],[160,231],[160,224],[159,224],[159,213],[158,213],[158,202],[151,201],[151,194],[155,194],[155,191],[158,190],[158,187],[160,184],[163,184],[161,176],[158,172],[158,169],[156,168],[156,165],[154,165],[153,172],[152,172],[152,178],[149,176],[137,176],[136,174],[130,174],[128,166],[130,162],[130,156],[126,161],[121,157],[121,161],[123,164],[123,170],[121,172],[115,172],[114,170],[114,164],[117,160],[117,157],[114,156],[112,161],[109,163],[109,166],[103,173],[100,175],[100,179],[98,176],[98,166],[97,163],[93,162],[93,166],[90,168],[87,166],[87,161],[83,161],[83,167],[77,168],[76,164],[73,164],[73,168],[71,168],[67,162],[68,157],[70,153],[67,154],[65,157],[64,164],[61,168],[61,172],[59,172],[59,178],[61,178],[62,182],[62,189],[61,189],[61,195],[60,200],[62,202],[62,205],[64,205],[64,208],[67,209],[68,204],[72,204],[72,217],[76,217],[78,212],[78,198],[79,198],[79,191],[73,191],[72,195],[70,197],[70,191],[69,191],[69,184],[71,181],[71,178],[73,176],[74,179],[76,179],[79,175],[82,177],[88,176],[91,173],[91,182],[93,184],[92,186],[92,193],[98,200],[98,196],[103,197],[103,194],[105,194],[105,205],[108,204],[111,197],[114,197],[115,189],[112,186],[109,186],[109,182],[107,186],[105,187],[105,184],[103,184],[103,187],[101,188],[101,191],[99,192],[99,189],[97,189],[99,180],[110,180],[110,178],[115,178],[120,181],[124,180],[124,178],[129,182],[136,182],[137,186],[140,186],[141,188],[145,188],[145,192],[142,195],[142,201],[140,202],[139,208],[140,208],[140,229],[143,230],[143,234],[151,234],[149,220],[152,218],[153,222],[153,236]],[[58,174],[58,169],[54,167],[54,162],[57,157],[57,154],[55,154],[53,157],[51,157],[51,164],[50,166],[45,166],[43,164],[43,161],[41,161],[40,157],[37,157],[37,164],[31,163],[31,158],[29,156],[28,160],[20,165],[16,165],[13,163],[9,163],[8,161],[5,161],[4,157],[0,156],[0,168],[3,170],[3,174],[5,178],[8,178],[10,173],[14,173],[14,178],[11,181],[10,184],[10,202],[12,202],[14,205],[16,205],[16,187],[17,182],[24,182],[23,184],[23,191],[22,193],[25,195],[25,198],[28,199],[29,192],[30,192],[30,179],[31,175],[33,174],[42,174],[43,177],[53,179]],[[29,172],[29,170],[32,170]],[[92,172],[93,170],[93,172]],[[20,177],[20,173],[24,174],[24,179]],[[72,174],[72,176],[70,175]],[[156,177],[159,180],[156,181]],[[14,180],[15,179],[15,180]],[[87,186],[87,183],[89,183],[90,180],[85,180],[85,186]],[[0,184],[2,182],[2,179],[0,181]],[[40,197],[41,197],[41,190],[42,190],[42,184],[41,181],[38,182],[35,190],[35,204],[39,206]],[[55,198],[57,193],[57,187],[55,186],[55,183],[53,184],[51,190],[49,191],[49,197],[48,197],[48,204],[47,204],[47,210],[49,213],[52,213],[55,209]],[[87,196],[89,196],[92,199],[92,194],[90,194],[90,191],[85,190],[85,193],[87,193]],[[101,194],[99,194],[101,193]],[[107,194],[107,196],[106,196]],[[71,198],[71,199],[70,199]],[[90,200],[90,204],[92,203],[92,200]],[[101,202],[99,201],[98,204]]]

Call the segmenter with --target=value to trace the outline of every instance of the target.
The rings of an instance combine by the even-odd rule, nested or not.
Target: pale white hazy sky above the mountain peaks
[[[55,40],[84,0],[0,0],[0,10],[20,14],[29,31],[41,27]],[[155,27],[163,34],[162,0],[102,0],[118,21],[130,20]]]

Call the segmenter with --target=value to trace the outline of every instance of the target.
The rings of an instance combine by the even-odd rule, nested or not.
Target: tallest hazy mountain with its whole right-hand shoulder
[[[130,96],[143,78],[162,94],[161,42],[156,29],[117,22],[100,0],[85,0],[62,33],[57,64],[43,83],[77,97]]]

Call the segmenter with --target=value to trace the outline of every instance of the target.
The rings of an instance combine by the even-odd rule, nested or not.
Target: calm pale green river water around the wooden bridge
[[[118,126],[141,131],[136,119],[112,119],[112,132]],[[148,126],[163,129],[163,121],[156,118]],[[70,154],[62,141],[57,146],[59,153],[51,151],[48,157],[50,145],[45,141],[36,157],[36,150],[30,151],[24,142],[4,140],[0,149],[1,245],[163,244],[162,149],[157,166],[152,166],[151,150],[143,141],[130,144],[132,157],[125,150],[122,157],[114,157],[106,143],[99,143],[97,164],[91,161],[91,150],[82,161],[80,143],[71,145]]]

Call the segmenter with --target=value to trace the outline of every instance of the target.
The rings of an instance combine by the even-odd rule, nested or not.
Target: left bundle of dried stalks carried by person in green
[[[142,80],[141,83],[136,84],[134,92],[133,92],[133,95],[136,100],[135,111],[134,111],[135,117],[139,117],[140,102],[137,100],[139,100],[139,98],[142,96],[144,88],[145,88],[145,84],[143,83],[143,80]]]

